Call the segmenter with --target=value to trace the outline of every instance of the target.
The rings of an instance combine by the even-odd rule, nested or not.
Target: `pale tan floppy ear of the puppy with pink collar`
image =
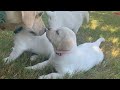
[[[58,46],[57,49],[59,50],[71,50],[74,46],[74,41],[72,39],[63,40]]]

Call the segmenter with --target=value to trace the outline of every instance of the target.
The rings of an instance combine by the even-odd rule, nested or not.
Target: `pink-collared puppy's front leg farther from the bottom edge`
[[[42,63],[38,63],[38,64],[36,64],[36,65],[34,65],[34,66],[26,67],[26,69],[34,69],[34,70],[42,69],[42,68],[46,67],[46,66],[49,65],[49,64],[50,64],[50,61],[47,60],[47,61],[44,61],[44,62],[42,62]]]

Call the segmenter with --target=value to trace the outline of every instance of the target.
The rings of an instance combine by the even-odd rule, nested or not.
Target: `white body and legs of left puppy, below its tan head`
[[[7,64],[17,59],[23,52],[29,51],[35,53],[30,59],[35,60],[38,55],[50,56],[54,51],[52,44],[46,37],[46,33],[42,36],[35,36],[29,30],[19,27],[14,33],[14,47],[9,57],[4,59]]]

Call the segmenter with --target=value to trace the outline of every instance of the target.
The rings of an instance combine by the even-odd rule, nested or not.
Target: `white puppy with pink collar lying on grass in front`
[[[77,46],[75,33],[67,27],[46,32],[49,41],[54,47],[54,53],[48,61],[27,69],[42,69],[47,65],[53,65],[57,73],[40,76],[39,78],[63,78],[66,73],[73,74],[75,71],[87,71],[104,59],[103,52],[99,48],[104,38],[93,43],[85,43]]]

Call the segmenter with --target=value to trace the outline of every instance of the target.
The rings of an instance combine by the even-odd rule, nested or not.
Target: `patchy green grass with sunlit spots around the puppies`
[[[46,21],[46,16],[43,17]],[[47,22],[46,22],[47,23]],[[24,67],[44,61],[45,57],[31,62],[29,54],[24,53],[15,62],[4,65],[2,59],[7,57],[13,46],[12,31],[0,31],[0,78],[1,79],[37,79],[40,75],[54,72],[52,67],[43,70],[25,70]],[[112,11],[90,13],[89,24],[84,24],[78,34],[78,45],[92,42],[99,37],[106,39],[101,48],[105,54],[104,61],[87,72],[78,72],[73,76],[66,75],[65,79],[119,79],[120,78],[120,16]]]

